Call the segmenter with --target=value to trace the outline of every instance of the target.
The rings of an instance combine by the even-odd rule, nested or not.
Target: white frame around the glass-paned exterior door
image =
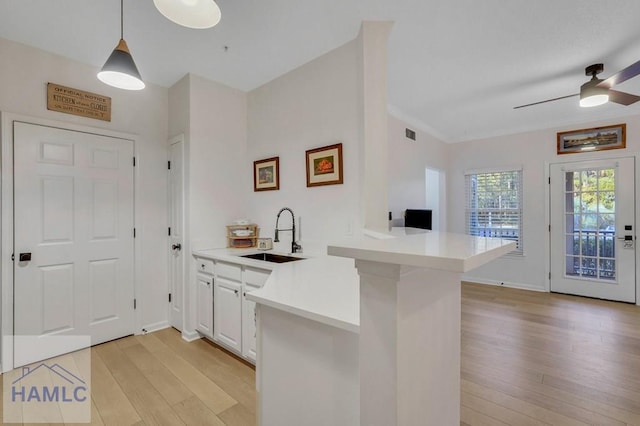
[[[633,158],[635,161],[635,188],[634,188],[634,197],[635,203],[637,204],[640,193],[640,172],[638,167],[640,167],[640,163],[638,160],[640,159],[640,155],[637,153],[617,153],[617,152],[597,152],[597,153],[582,153],[577,154],[575,157],[570,158],[558,158],[557,161],[545,161],[544,162],[544,180],[547,183],[545,185],[545,197],[544,197],[544,210],[545,210],[545,226],[549,229],[548,232],[545,232],[545,246],[546,246],[546,256],[545,256],[545,272],[547,275],[547,279],[545,279],[544,287],[547,293],[551,292],[551,279],[549,278],[549,274],[551,274],[551,165],[561,165],[561,164],[574,164],[574,163],[582,163],[589,161],[598,161],[598,160],[615,160],[619,158]],[[635,211],[635,225],[636,225],[636,245],[640,241],[638,239],[640,237],[640,231],[638,231],[638,226],[640,224],[640,209],[636,208]],[[636,305],[640,306],[640,250],[636,246]]]

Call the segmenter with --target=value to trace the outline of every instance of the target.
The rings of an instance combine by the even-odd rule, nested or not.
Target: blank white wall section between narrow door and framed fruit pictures
[[[226,247],[226,225],[246,214],[247,95],[190,75],[191,248]]]

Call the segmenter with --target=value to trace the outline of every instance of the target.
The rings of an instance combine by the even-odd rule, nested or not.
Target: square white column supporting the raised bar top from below
[[[356,260],[360,424],[460,424],[460,272]]]

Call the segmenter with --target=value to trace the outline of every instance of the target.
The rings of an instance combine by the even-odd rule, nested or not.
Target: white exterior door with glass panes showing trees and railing
[[[635,302],[635,159],[549,171],[551,291]]]

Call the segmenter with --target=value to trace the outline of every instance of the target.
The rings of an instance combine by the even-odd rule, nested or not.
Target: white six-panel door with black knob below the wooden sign
[[[14,366],[79,349],[52,336],[133,333],[132,158],[130,140],[14,123],[14,334],[38,336]]]

